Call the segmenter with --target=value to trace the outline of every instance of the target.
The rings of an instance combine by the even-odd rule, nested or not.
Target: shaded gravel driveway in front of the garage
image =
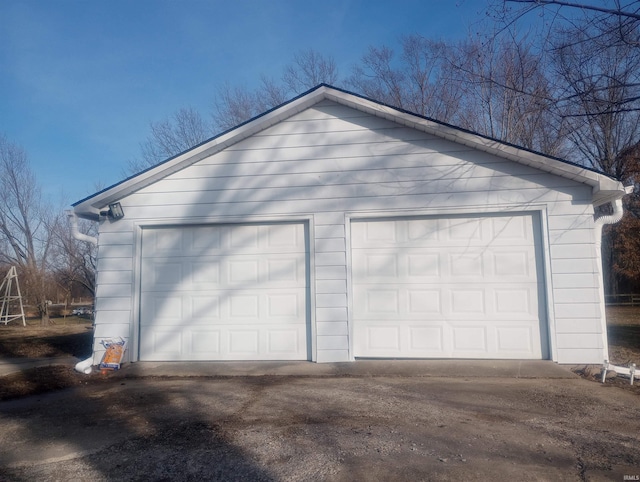
[[[0,403],[0,427],[0,480],[640,475],[638,394],[579,378],[121,378]]]

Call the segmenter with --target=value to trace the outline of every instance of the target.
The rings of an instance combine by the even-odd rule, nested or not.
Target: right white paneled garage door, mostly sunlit
[[[351,224],[356,357],[547,358],[537,214]]]

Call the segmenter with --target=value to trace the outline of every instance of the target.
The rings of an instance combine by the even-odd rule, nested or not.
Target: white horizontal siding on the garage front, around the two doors
[[[122,199],[126,217],[100,228],[96,323],[136,307],[136,224],[311,218],[317,360],[349,360],[350,213],[534,209],[548,227],[555,359],[600,363],[591,196],[587,185],[322,101]]]

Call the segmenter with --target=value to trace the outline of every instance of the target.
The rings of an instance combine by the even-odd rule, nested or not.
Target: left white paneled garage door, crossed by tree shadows
[[[306,360],[304,224],[145,228],[141,360]]]

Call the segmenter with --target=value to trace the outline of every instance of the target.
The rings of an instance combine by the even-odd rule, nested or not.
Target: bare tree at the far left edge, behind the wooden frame
[[[23,148],[0,136],[0,263],[18,269],[23,295],[49,323],[49,258],[60,216],[42,202]]]

